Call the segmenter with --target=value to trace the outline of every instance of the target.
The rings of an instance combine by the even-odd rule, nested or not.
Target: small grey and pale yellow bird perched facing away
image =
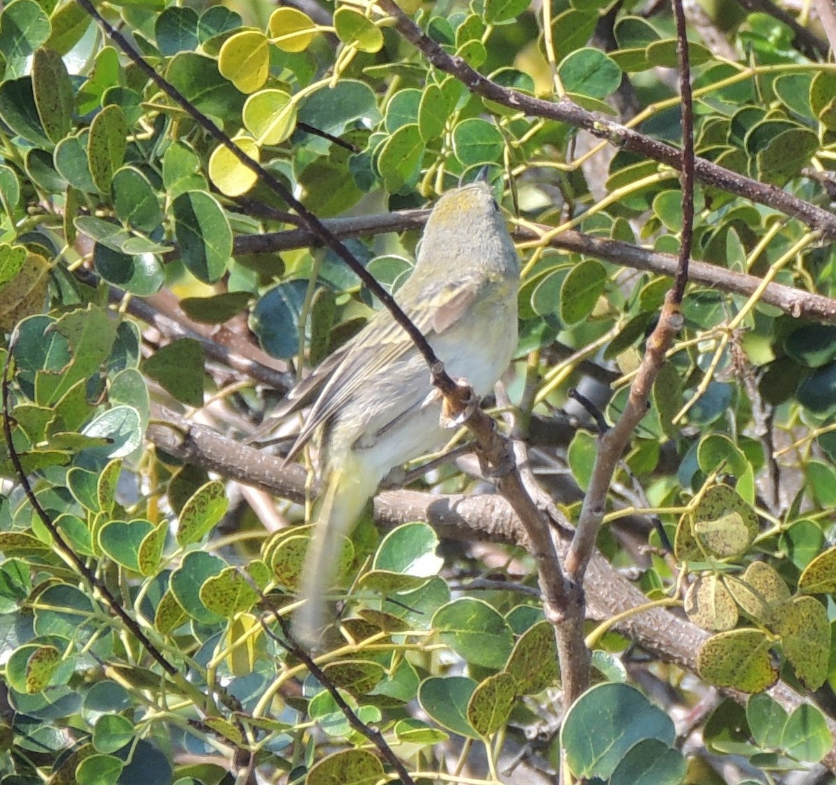
[[[483,182],[448,191],[427,221],[409,280],[396,293],[447,372],[487,395],[517,346],[519,258]],[[415,345],[382,309],[288,396],[319,396],[290,456],[319,432],[319,496],[296,635],[313,645],[324,622],[342,538],[394,466],[440,446],[441,396]]]

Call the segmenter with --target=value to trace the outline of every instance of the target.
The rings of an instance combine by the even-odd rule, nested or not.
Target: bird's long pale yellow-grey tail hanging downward
[[[314,528],[302,574],[303,604],[293,615],[293,635],[311,648],[319,644],[325,626],[325,597],[334,582],[344,537],[380,482],[362,463],[349,451],[339,467],[327,469],[324,491],[314,505]]]

